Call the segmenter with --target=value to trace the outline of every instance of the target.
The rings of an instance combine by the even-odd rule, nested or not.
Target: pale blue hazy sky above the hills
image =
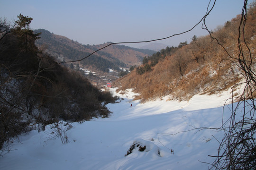
[[[207,11],[210,0],[0,0],[0,17],[32,17],[32,29],[43,28],[82,44],[134,42],[164,38],[191,29]],[[214,0],[211,0],[212,6]],[[249,0],[252,2],[253,0]],[[241,13],[244,0],[216,0],[206,23],[214,30]],[[169,46],[191,41],[193,31],[157,41]],[[146,45],[126,44],[140,47]]]

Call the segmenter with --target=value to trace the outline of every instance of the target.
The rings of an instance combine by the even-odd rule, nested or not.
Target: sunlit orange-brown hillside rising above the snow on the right
[[[235,89],[247,74],[256,72],[255,3],[247,12],[246,25],[240,23],[238,15],[213,30],[212,37],[195,35],[189,44],[167,47],[145,58],[143,65],[120,78],[116,85],[121,85],[122,90],[133,88],[144,100],[167,94],[173,99],[189,100],[198,93]]]

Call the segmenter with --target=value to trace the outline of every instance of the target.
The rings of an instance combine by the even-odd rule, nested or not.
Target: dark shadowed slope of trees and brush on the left
[[[109,110],[101,103],[114,102],[109,92],[102,93],[79,72],[38,51],[35,40],[39,34],[29,28],[32,18],[21,14],[18,18],[18,25],[0,39],[0,150],[35,124],[40,131],[60,119],[107,117]],[[46,32],[47,36],[51,34]],[[65,46],[63,50],[79,54]],[[94,59],[101,62],[101,58]]]

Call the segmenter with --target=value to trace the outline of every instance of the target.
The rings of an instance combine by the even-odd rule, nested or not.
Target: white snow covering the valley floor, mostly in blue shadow
[[[51,128],[19,136],[0,157],[0,170],[207,170],[216,155],[222,132],[193,127],[220,127],[230,92],[195,95],[189,102],[168,97],[146,103],[132,101],[131,90],[108,104],[110,118],[74,122],[62,144]],[[132,106],[131,106],[132,104]],[[224,119],[229,118],[224,107]],[[51,126],[48,126],[51,127]],[[64,125],[62,124],[63,129]],[[51,134],[52,133],[52,134]],[[133,143],[146,146],[127,156]]]

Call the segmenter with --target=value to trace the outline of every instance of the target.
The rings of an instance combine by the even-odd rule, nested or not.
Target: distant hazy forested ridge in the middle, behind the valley
[[[40,34],[40,39],[36,41],[39,49],[47,51],[58,59],[66,61],[82,59],[93,51],[107,45],[83,45],[67,37],[50,33],[44,29],[35,30]],[[111,45],[101,51],[96,52],[91,57],[81,61],[81,64],[92,69],[108,72],[109,68],[119,70],[119,68],[129,68],[140,65],[143,57],[153,54],[155,51],[134,49],[124,45]]]

